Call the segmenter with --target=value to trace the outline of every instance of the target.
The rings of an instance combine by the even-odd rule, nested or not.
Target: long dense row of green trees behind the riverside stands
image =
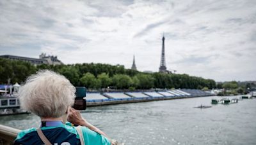
[[[34,66],[29,62],[0,59],[0,84],[22,83],[40,69],[49,69],[67,77],[74,86],[90,89],[150,89],[150,88],[216,88],[213,79],[204,79],[188,74],[152,74],[125,69],[124,66],[109,64],[68,64]]]

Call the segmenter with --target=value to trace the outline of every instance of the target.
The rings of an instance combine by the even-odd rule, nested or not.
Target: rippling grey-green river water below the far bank
[[[211,99],[162,100],[88,107],[82,116],[125,144],[256,144],[256,99],[211,106]],[[239,98],[239,97],[237,97]],[[38,127],[33,114],[1,116],[0,124]]]

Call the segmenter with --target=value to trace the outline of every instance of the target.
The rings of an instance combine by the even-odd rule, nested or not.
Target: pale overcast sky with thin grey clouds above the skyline
[[[256,80],[256,1],[0,1],[0,55]]]

